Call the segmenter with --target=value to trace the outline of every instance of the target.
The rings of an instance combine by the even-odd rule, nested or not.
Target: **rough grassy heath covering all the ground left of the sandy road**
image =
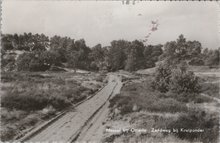
[[[1,141],[9,141],[95,93],[83,81],[104,82],[105,75],[66,72],[1,73]],[[101,85],[96,86],[100,88]]]

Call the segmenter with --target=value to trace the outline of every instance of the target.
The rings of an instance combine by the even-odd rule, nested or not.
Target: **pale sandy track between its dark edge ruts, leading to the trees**
[[[56,122],[32,136],[26,142],[73,142],[75,141],[87,122],[104,107],[110,96],[118,89],[119,78],[109,75],[108,84],[95,96],[69,111]]]

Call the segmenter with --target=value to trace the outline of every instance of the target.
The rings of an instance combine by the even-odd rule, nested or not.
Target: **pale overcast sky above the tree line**
[[[180,34],[203,48],[220,47],[220,4],[217,2],[3,0],[2,33],[44,33],[84,38],[90,47],[112,40],[143,39],[151,21],[158,30],[148,44],[174,41]]]

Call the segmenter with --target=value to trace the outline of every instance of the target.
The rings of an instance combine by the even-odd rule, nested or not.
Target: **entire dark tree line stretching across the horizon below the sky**
[[[191,65],[217,66],[219,49],[202,50],[199,41],[180,35],[164,45],[144,45],[141,40],[113,40],[110,46],[86,45],[84,39],[44,34],[2,34],[1,67],[18,71],[46,71],[52,66],[93,71],[136,71],[152,68],[156,62],[186,60]],[[15,51],[22,51],[16,57]],[[13,54],[14,53],[14,54]]]

